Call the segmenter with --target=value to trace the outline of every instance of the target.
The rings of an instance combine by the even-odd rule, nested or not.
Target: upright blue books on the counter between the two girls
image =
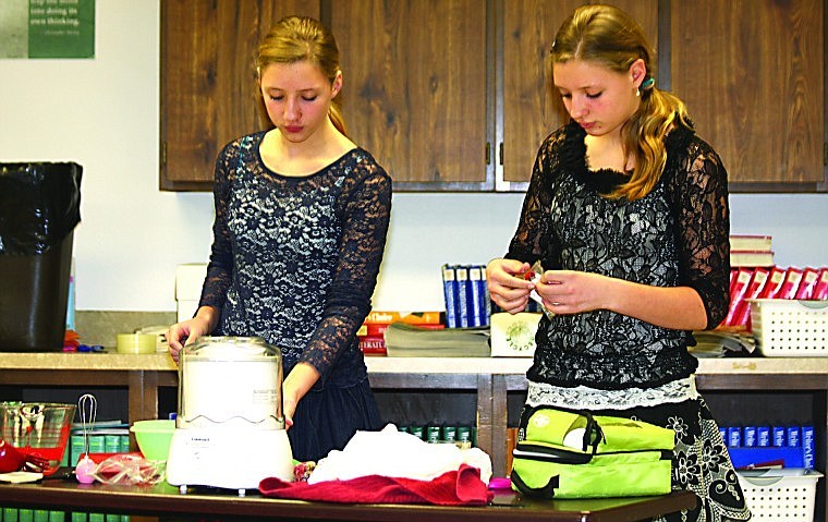
[[[446,326],[467,328],[487,326],[491,302],[483,265],[442,265],[446,298]]]

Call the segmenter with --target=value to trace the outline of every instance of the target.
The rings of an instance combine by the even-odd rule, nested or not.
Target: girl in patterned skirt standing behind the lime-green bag
[[[748,520],[687,350],[730,299],[721,159],[658,88],[654,52],[621,10],[576,9],[550,64],[571,121],[540,146],[509,251],[487,267],[502,309],[523,311],[533,290],[544,304],[526,405],[674,429],[672,487],[699,502],[667,520]]]

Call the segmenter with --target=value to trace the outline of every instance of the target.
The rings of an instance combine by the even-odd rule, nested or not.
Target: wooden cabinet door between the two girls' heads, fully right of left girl
[[[337,0],[331,29],[349,133],[394,190],[491,190],[486,2]]]

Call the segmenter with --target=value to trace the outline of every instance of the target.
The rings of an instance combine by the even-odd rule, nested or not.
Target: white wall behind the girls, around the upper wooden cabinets
[[[173,311],[178,264],[205,262],[212,201],[158,190],[159,9],[97,2],[94,60],[0,60],[0,161],[84,167],[77,309]],[[520,194],[398,194],[375,306],[442,307],[439,266],[503,253]],[[780,265],[828,265],[828,195],[731,198],[732,231]]]

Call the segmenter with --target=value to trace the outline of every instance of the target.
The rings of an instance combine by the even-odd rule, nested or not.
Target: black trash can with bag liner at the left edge
[[[82,172],[74,162],[0,162],[0,351],[63,349]]]

